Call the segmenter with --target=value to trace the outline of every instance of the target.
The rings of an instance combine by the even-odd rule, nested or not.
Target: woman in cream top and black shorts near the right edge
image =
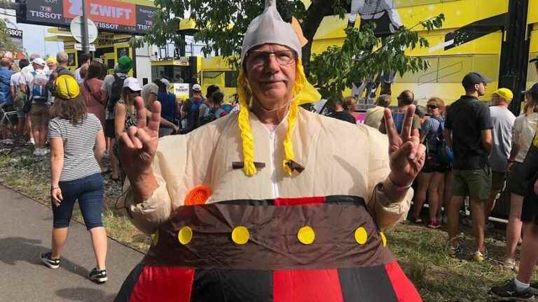
[[[516,246],[521,238],[521,207],[523,197],[527,194],[524,180],[521,179],[521,166],[527,156],[527,151],[532,143],[534,132],[538,122],[538,103],[530,94],[525,94],[525,108],[523,114],[516,118],[513,124],[512,150],[507,170],[509,171],[508,189],[510,195],[510,217],[506,227],[506,268],[516,267]]]

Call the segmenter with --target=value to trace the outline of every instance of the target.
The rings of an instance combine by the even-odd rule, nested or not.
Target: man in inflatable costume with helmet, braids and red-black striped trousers
[[[421,301],[382,229],[405,217],[425,147],[298,108],[301,42],[274,0],[241,53],[239,113],[158,140],[160,104],[120,138],[123,206],[154,233],[116,301]]]

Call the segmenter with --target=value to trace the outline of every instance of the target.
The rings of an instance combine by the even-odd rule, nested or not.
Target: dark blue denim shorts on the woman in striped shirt
[[[61,181],[64,200],[60,206],[53,205],[53,227],[55,229],[69,227],[75,201],[81,208],[86,229],[102,227],[101,213],[103,208],[104,182],[101,173],[95,173],[76,180]]]

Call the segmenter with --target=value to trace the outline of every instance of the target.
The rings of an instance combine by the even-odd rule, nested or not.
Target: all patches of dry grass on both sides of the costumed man
[[[32,199],[50,206],[50,170],[47,161],[34,161],[32,150],[21,148],[8,154],[0,151],[0,182]],[[149,247],[150,238],[132,226],[123,212],[115,209],[120,192],[116,182],[106,177],[103,222],[109,236],[142,252]],[[83,222],[76,206],[75,220]],[[467,254],[474,247],[468,229],[463,229],[462,242]],[[470,259],[455,259],[447,253],[446,231],[427,229],[413,224],[399,224],[386,231],[387,242],[399,259],[408,277],[415,283],[424,301],[469,302],[488,301],[488,290],[513,277],[495,261],[477,264]],[[504,231],[488,233],[490,257],[503,259]]]

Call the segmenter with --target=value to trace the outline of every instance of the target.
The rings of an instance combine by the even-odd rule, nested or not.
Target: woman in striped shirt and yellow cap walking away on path
[[[50,268],[60,266],[69,220],[78,200],[97,261],[88,277],[105,282],[106,231],[101,221],[104,183],[99,168],[105,147],[103,128],[99,119],[87,112],[79,96],[80,87],[71,75],[60,75],[55,84],[57,96],[50,109],[53,119],[48,124],[53,248],[41,254],[41,261]]]

